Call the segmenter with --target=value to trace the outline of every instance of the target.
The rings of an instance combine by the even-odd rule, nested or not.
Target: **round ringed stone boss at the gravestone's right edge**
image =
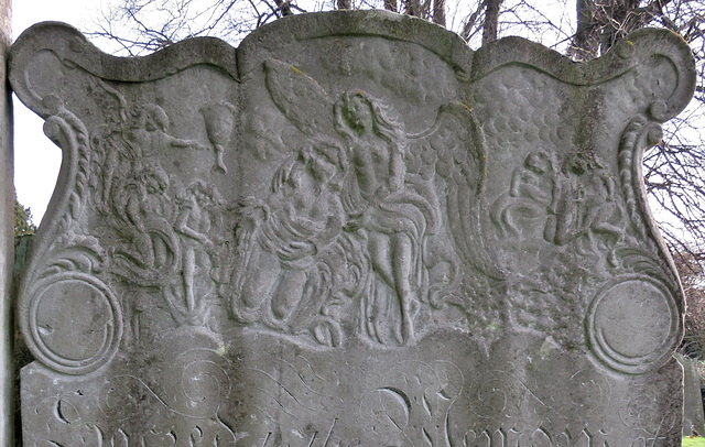
[[[585,319],[593,353],[627,374],[651,371],[671,358],[680,319],[668,285],[647,275],[622,275],[595,295]]]

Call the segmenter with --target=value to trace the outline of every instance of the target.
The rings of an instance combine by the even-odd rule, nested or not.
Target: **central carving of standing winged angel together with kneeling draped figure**
[[[289,64],[264,68],[306,148],[289,154],[264,203],[242,208],[236,319],[335,346],[349,325],[332,303],[347,301],[360,303],[347,308],[361,309],[352,319],[369,340],[408,345],[429,320],[424,305],[467,307],[467,271],[500,275],[480,238],[485,150],[469,109],[446,103],[410,134],[382,99],[357,90],[332,100]]]

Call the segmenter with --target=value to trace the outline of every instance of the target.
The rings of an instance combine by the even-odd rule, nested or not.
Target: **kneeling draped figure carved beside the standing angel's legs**
[[[265,203],[242,204],[230,302],[237,320],[293,335],[311,328],[316,341],[340,344],[335,307],[354,297],[345,276],[364,261],[344,251],[356,246],[341,232],[339,156],[336,146],[302,149],[276,171]]]

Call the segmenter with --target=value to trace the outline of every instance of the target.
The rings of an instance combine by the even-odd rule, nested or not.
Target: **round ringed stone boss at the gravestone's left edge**
[[[86,374],[107,363],[122,337],[118,299],[100,280],[79,272],[41,280],[24,318],[34,357],[58,372]]]

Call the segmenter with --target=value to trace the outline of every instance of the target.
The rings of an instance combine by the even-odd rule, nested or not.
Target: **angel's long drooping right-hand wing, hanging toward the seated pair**
[[[458,258],[494,279],[501,279],[485,247],[480,227],[486,176],[485,139],[473,112],[449,102],[438,109],[435,123],[409,135],[408,173],[433,179],[445,228]]]

